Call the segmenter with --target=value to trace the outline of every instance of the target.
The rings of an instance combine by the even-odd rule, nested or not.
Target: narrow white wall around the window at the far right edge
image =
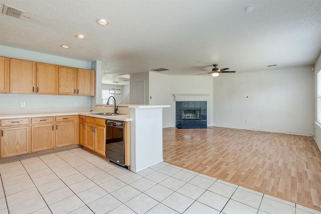
[[[314,102],[314,121],[317,121],[317,72],[321,70],[321,54],[317,61],[315,62],[314,65],[314,97],[315,97],[315,102]],[[321,150],[321,127],[318,123],[314,123],[314,128],[315,128],[315,134],[314,134],[314,139]]]

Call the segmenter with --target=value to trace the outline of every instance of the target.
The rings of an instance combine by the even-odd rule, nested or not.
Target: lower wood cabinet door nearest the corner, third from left
[[[56,147],[75,144],[75,123],[56,123]]]

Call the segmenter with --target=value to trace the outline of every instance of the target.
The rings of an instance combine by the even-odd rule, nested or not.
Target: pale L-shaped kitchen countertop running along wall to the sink
[[[95,115],[92,113],[97,112],[47,112],[47,113],[28,113],[28,114],[2,114],[0,115],[0,119],[18,119],[18,118],[29,118],[29,117],[50,117],[50,116],[65,116],[65,115],[84,115],[90,117],[97,117],[102,119],[110,119],[110,120],[119,120],[119,121],[132,121],[130,115],[122,114],[115,116],[101,116]]]

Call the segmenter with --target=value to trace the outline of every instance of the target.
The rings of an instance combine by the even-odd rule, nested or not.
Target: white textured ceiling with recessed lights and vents
[[[1,10],[6,4],[26,12],[23,19],[0,14],[1,45],[100,60],[103,83],[162,67],[170,69],[162,74],[197,75],[213,64],[237,72],[312,65],[321,51],[319,0],[0,3]],[[99,18],[109,25],[98,25]]]

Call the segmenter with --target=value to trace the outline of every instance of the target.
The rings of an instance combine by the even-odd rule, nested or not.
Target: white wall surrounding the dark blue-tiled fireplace
[[[207,125],[213,126],[213,77],[149,73],[149,105],[171,105],[163,109],[163,127],[175,127],[174,94],[209,94]],[[150,99],[151,96],[151,99]]]

